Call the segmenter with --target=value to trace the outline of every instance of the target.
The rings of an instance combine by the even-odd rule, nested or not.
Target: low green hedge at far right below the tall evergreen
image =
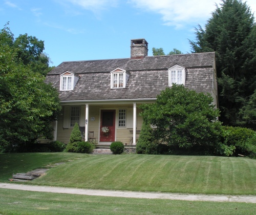
[[[234,146],[234,155],[236,156],[239,154],[249,156],[251,153],[249,148],[255,137],[255,132],[243,127],[223,126],[222,128],[222,143],[226,146]]]

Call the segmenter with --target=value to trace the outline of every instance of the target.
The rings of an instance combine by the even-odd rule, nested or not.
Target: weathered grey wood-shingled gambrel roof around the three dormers
[[[211,93],[214,63],[214,52],[146,56],[138,60],[66,61],[48,73],[46,82],[51,82],[59,90],[60,74],[69,71],[80,76],[73,91],[59,91],[61,101],[150,99],[168,87],[168,68],[179,65],[187,70],[185,87]],[[110,72],[116,68],[130,73],[124,89],[110,87]]]

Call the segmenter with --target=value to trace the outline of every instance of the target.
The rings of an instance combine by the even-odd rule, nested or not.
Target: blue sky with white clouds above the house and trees
[[[165,53],[190,52],[195,27],[220,0],[0,0],[1,29],[45,41],[50,66],[62,61],[129,58],[130,41],[145,38]],[[252,12],[256,1],[247,0]]]

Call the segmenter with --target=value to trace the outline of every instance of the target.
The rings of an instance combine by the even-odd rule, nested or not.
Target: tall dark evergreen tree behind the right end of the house
[[[246,3],[223,0],[190,45],[196,53],[216,52],[221,121],[255,129],[256,26]]]

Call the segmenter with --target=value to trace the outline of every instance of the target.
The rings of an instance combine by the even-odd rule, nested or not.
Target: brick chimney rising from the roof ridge
[[[145,39],[131,39],[131,59],[143,59],[147,56],[148,43]]]

